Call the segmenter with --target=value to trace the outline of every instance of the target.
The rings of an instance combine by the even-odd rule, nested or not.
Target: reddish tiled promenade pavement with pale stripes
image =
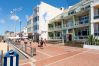
[[[29,44],[27,44],[29,46]],[[42,49],[36,48],[36,66],[99,66],[99,50],[90,50],[77,47],[47,44]],[[29,49],[27,49],[29,51]],[[31,66],[29,61],[21,66]]]

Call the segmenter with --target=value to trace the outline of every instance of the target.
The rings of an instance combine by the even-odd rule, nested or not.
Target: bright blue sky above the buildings
[[[10,19],[11,11],[13,9],[21,9],[16,11],[16,15],[22,22],[22,27],[26,25],[26,16],[31,15],[33,7],[40,3],[40,1],[46,2],[55,7],[68,7],[79,0],[0,0],[0,34],[4,31],[14,31],[15,21]],[[16,31],[19,31],[19,22],[16,22]]]

